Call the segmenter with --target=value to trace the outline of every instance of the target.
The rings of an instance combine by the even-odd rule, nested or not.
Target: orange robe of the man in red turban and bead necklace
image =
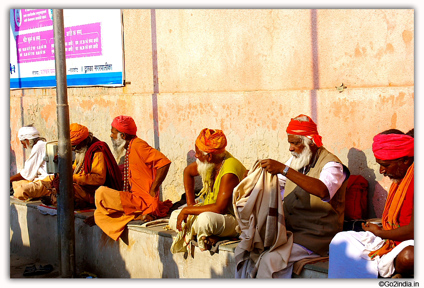
[[[159,201],[159,193],[150,196],[150,187],[156,171],[171,163],[161,152],[136,137],[128,147],[129,184],[131,193],[99,187],[96,191],[94,220],[104,233],[115,241],[119,239],[128,222],[140,214],[164,217],[172,202]]]

